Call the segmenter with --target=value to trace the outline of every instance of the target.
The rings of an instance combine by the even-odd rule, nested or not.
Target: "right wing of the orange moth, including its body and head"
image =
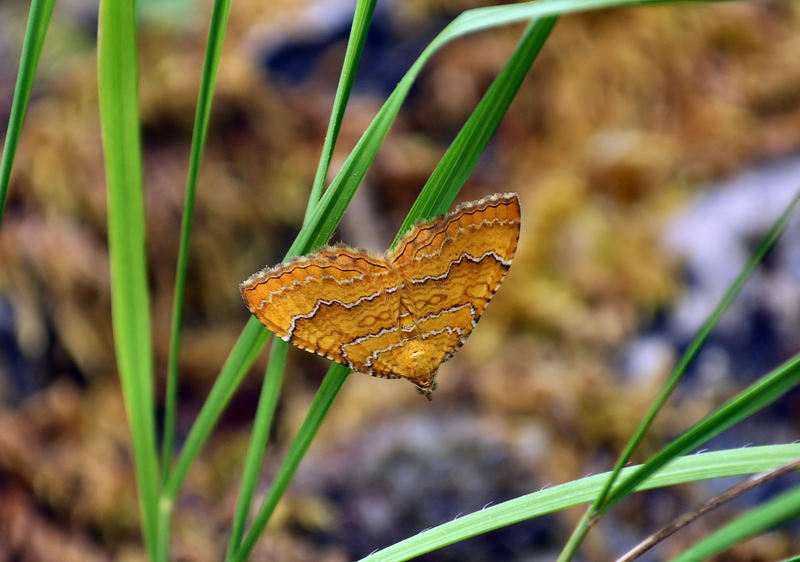
[[[399,344],[371,361],[422,388],[464,344],[511,266],[519,199],[502,194],[467,203],[416,226],[387,259],[403,280]]]

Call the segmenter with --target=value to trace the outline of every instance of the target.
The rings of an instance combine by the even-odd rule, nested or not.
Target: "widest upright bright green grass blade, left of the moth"
[[[159,477],[145,256],[135,11],[132,1],[103,0],[100,3],[98,87],[108,182],[114,344],[133,435],[144,540],[151,559],[155,559]]]

